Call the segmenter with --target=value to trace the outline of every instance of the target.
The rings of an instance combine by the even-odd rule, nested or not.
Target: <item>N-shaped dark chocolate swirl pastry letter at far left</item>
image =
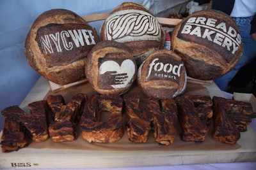
[[[31,114],[26,114],[19,106],[10,106],[2,111],[4,117],[2,152],[19,150],[32,139],[42,142],[49,138],[46,101],[28,104]]]

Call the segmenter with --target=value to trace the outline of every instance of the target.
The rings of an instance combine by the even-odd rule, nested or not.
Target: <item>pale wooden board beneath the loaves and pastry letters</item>
[[[68,101],[77,92],[86,92],[88,96],[95,93],[89,83],[84,83],[56,94],[63,95]],[[129,90],[129,93],[138,92],[143,98],[143,94],[136,86]],[[20,108],[28,112],[29,103],[42,100],[49,94],[52,94],[49,83],[41,77]],[[215,83],[210,85],[188,83],[185,94],[224,97]],[[255,143],[256,135],[250,127],[247,132],[241,133],[241,139],[236,145],[214,141],[211,134],[208,134],[203,143],[184,142],[177,135],[170,146],[158,145],[152,134],[147,143],[143,144],[129,142],[127,134],[124,134],[120,141],[111,144],[88,143],[79,135],[76,141],[70,143],[52,143],[51,139],[48,139],[42,143],[33,142],[17,152],[0,153],[0,168],[134,167],[250,162],[256,161]]]

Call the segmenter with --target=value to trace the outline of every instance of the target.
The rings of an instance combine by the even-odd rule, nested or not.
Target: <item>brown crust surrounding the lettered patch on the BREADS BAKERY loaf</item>
[[[200,15],[203,17],[207,16],[207,18],[221,18],[221,20],[224,20],[230,25],[234,22],[228,15],[216,10],[198,11],[189,17],[198,17]],[[188,76],[199,80],[214,80],[228,73],[228,71],[236,66],[243,53],[242,43],[236,55],[234,55],[230,62],[227,62],[220,53],[221,46],[219,50],[212,50],[212,46],[205,39],[202,40],[204,43],[202,45],[194,41],[185,41],[184,39],[178,38],[179,31],[182,29],[181,26],[185,21],[183,20],[176,25],[172,33],[171,43],[172,50],[182,58]],[[235,23],[232,24],[232,27],[239,31]]]

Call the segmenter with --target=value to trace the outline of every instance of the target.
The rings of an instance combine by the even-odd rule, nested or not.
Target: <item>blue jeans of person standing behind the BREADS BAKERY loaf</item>
[[[218,87],[223,91],[225,91],[228,83],[232,80],[232,78],[236,76],[236,73],[239,71],[239,69],[248,64],[248,62],[250,62],[253,57],[256,56],[256,41],[254,41],[250,36],[250,22],[252,21],[252,18],[253,16],[246,18],[233,18],[240,30],[240,35],[243,42],[243,55],[241,56],[241,59],[234,67],[234,69],[221,76],[220,78],[214,80],[216,85],[218,85]]]

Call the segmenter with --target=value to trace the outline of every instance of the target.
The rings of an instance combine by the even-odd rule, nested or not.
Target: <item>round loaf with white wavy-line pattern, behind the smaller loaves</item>
[[[122,3],[109,13],[100,38],[127,45],[138,66],[164,45],[163,28],[156,17],[141,4],[131,2]]]

